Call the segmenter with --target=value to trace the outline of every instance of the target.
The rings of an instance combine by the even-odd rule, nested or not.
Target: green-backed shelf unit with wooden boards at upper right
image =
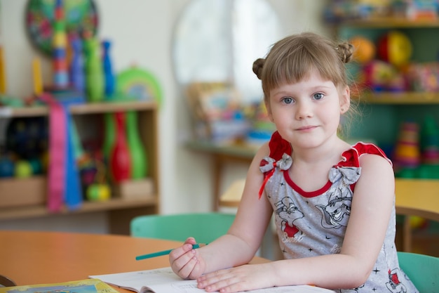
[[[376,44],[382,34],[391,30],[399,30],[409,37],[413,47],[412,60],[419,63],[438,60],[439,20],[414,21],[392,17],[346,20],[337,23],[335,35],[339,39],[362,35]],[[363,117],[360,123],[351,126],[348,136],[372,138],[385,151],[390,150],[398,138],[401,122],[410,119],[421,125],[425,115],[439,121],[439,93],[436,92],[365,92],[356,100]]]

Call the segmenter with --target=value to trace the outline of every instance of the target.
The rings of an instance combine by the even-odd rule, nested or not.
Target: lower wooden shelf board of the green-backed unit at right
[[[439,93],[401,92],[401,93],[364,93],[356,98],[360,103],[389,105],[439,104]]]

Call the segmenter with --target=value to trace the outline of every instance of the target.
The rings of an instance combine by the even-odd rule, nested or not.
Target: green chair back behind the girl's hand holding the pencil
[[[195,237],[199,243],[209,243],[229,230],[235,214],[195,213],[137,216],[130,223],[133,237],[148,237],[182,241]]]

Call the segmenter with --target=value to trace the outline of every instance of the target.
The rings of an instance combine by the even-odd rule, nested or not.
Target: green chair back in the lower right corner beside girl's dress
[[[400,268],[420,293],[439,292],[439,258],[425,254],[398,252]]]

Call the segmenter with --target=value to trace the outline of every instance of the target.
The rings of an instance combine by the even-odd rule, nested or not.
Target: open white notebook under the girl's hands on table
[[[137,293],[201,293],[204,289],[196,287],[196,280],[182,280],[173,273],[170,267],[149,271],[135,271],[108,275],[90,275],[89,278],[100,279],[109,285],[128,289]],[[276,292],[276,293],[328,293],[329,289],[308,285],[271,287],[247,292]]]

